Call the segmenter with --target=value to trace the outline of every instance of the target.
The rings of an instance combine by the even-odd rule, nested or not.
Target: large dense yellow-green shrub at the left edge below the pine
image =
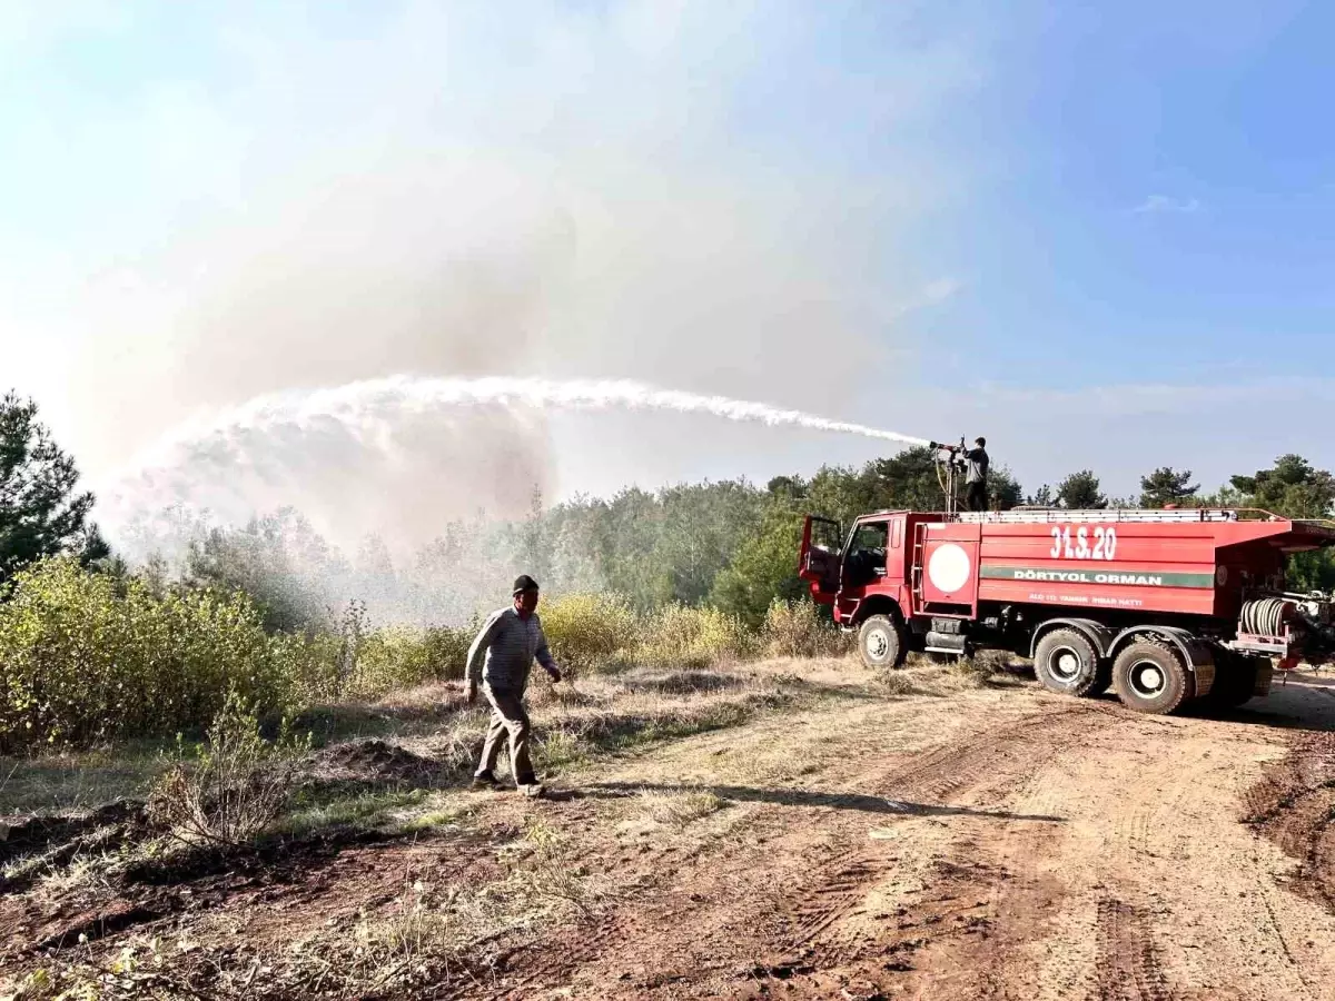
[[[243,594],[159,594],[71,558],[43,561],[0,602],[0,747],[199,726],[228,689],[279,709],[291,654]]]

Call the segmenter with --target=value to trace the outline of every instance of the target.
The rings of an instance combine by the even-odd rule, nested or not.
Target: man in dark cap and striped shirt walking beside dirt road
[[[495,766],[501,741],[510,737],[510,766],[514,783],[525,795],[539,797],[542,783],[533,774],[529,759],[529,714],[523,709],[523,690],[529,670],[537,658],[551,681],[561,681],[557,662],[547,650],[547,638],[538,619],[538,582],[522,574],[514,582],[514,605],[493,611],[469,647],[463,683],[469,703],[478,699],[478,682],[491,703],[491,725],[482,746],[482,761],[473,777],[474,789],[498,789]]]

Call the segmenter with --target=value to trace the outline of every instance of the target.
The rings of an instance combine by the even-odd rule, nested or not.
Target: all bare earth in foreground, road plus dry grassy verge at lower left
[[[242,854],[24,827],[0,970],[32,997],[1335,997],[1326,679],[1147,718],[1005,666],[901,677],[535,693],[539,801],[465,791],[477,710],[419,714],[316,753],[324,814]]]

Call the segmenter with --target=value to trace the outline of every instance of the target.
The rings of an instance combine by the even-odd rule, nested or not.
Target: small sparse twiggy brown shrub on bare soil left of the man
[[[260,734],[256,707],[235,690],[208,727],[208,746],[199,761],[178,761],[158,781],[148,801],[150,817],[190,842],[243,845],[262,834],[283,811],[296,778],[299,757],[310,737],[296,741],[284,718],[276,741]]]

